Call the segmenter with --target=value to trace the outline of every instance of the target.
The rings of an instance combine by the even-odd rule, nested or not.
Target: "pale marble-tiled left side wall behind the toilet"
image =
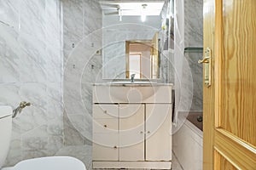
[[[5,166],[63,146],[60,16],[59,0],[0,0],[0,103],[32,103],[13,120]]]

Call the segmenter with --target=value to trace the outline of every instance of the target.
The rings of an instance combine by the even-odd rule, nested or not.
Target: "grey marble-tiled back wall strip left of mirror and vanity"
[[[82,147],[91,145],[92,84],[102,82],[102,10],[94,0],[62,0],[62,6],[65,145]]]

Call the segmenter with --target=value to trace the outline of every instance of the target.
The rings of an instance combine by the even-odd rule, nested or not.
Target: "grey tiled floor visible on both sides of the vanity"
[[[73,156],[83,161],[87,170],[92,169],[91,146],[67,146],[59,150],[56,156]],[[177,161],[177,157],[172,153],[172,170],[183,170]]]

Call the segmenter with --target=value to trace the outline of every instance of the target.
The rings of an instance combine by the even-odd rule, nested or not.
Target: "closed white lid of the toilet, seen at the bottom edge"
[[[84,163],[70,156],[49,156],[20,161],[14,170],[86,170]]]

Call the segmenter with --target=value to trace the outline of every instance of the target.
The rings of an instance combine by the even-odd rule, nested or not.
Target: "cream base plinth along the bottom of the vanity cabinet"
[[[93,168],[171,169],[171,161],[92,161]]]

